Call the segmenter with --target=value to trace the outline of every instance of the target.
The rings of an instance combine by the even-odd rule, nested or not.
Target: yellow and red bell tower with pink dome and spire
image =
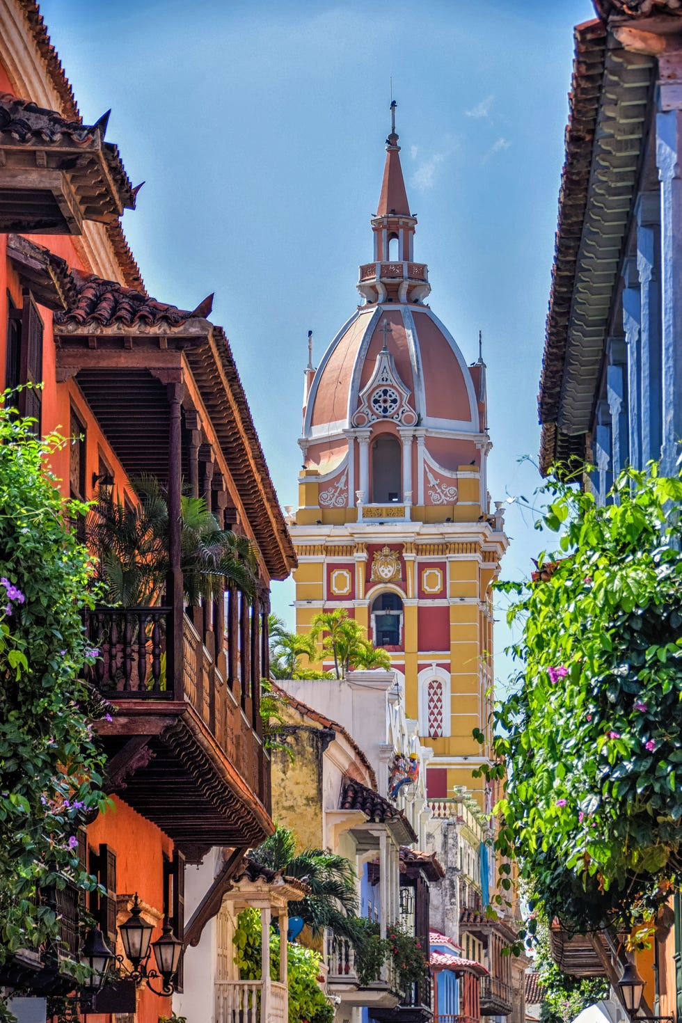
[[[390,652],[407,713],[434,748],[429,798],[463,785],[485,805],[471,770],[490,754],[491,583],[507,546],[487,489],[486,364],[480,344],[467,365],[425,303],[395,118],[393,102],[361,304],[317,368],[309,349],[290,521],[297,629],[334,608],[361,622]]]

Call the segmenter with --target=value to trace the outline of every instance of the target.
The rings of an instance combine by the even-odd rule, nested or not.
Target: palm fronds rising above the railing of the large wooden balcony
[[[157,603],[170,568],[168,504],[158,481],[142,476],[131,481],[135,506],[99,496],[88,523],[88,536],[98,562],[97,578],[105,599],[126,608]],[[221,529],[202,497],[181,498],[180,563],[185,599],[221,596],[236,586],[247,597],[256,589],[256,551],[243,536]]]

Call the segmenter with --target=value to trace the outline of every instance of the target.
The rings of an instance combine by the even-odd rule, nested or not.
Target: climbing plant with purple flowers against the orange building
[[[91,570],[65,525],[87,508],[45,471],[64,443],[0,403],[0,963],[58,935],[42,889],[93,887],[76,832],[105,805],[93,720],[106,708],[83,680],[98,656],[82,621]]]

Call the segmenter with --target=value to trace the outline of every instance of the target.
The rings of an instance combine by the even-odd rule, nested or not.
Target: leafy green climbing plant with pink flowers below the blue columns
[[[545,494],[556,549],[502,584],[520,638],[485,771],[506,777],[497,846],[549,920],[641,938],[682,866],[682,482],[650,466],[605,506],[557,481]]]

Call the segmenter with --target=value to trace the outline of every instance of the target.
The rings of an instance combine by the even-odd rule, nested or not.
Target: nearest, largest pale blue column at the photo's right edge
[[[682,438],[682,112],[667,103],[656,115],[656,166],[661,179],[662,470],[675,475]],[[677,97],[671,97],[673,101]],[[679,102],[679,100],[678,100]],[[676,103],[677,105],[677,103]]]

